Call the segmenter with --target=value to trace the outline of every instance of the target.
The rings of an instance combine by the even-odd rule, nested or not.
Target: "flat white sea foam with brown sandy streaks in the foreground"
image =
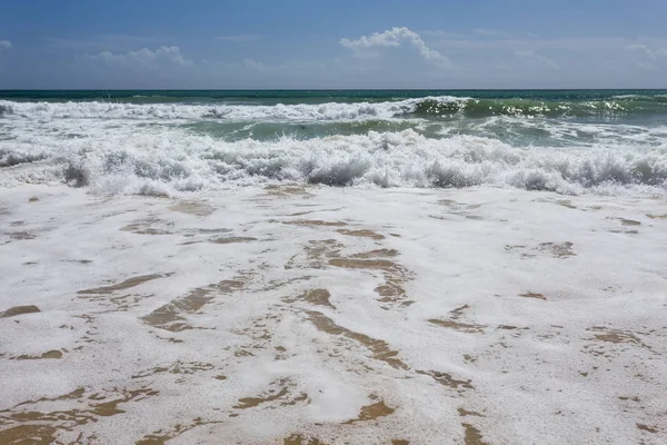
[[[0,443],[667,441],[664,199],[24,185],[0,251]]]

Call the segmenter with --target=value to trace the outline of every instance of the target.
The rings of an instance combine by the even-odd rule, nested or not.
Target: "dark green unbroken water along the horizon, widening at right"
[[[441,103],[427,98],[470,99]],[[425,98],[425,118],[527,116],[651,120],[667,116],[667,90],[0,90],[0,100],[276,106]]]

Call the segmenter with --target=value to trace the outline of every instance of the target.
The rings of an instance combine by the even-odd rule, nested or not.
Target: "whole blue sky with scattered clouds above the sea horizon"
[[[665,0],[3,0],[0,89],[667,88]]]

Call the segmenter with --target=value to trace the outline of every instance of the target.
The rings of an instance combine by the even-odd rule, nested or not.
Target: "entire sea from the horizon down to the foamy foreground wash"
[[[0,443],[667,443],[667,91],[1,91]]]

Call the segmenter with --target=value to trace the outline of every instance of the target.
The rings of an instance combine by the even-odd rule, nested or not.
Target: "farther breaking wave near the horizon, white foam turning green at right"
[[[221,119],[230,121],[364,120],[394,118],[615,118],[667,113],[667,97],[620,96],[608,99],[549,101],[475,99],[450,96],[381,102],[295,105],[127,103],[113,101],[17,102],[0,100],[0,117],[29,119]]]

